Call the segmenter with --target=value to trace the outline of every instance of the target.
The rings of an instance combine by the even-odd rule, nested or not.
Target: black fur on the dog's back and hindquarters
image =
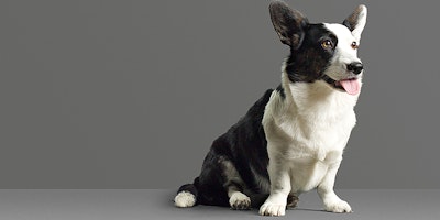
[[[268,180],[267,141],[262,120],[272,91],[273,89],[268,89],[237,124],[213,141],[211,150],[205,157],[201,173],[193,184],[197,188],[197,194],[194,194],[191,184],[184,185],[178,191],[188,190],[193,195],[197,195],[198,204],[229,206],[228,191],[224,186],[227,179],[222,164],[227,160],[235,166],[246,186],[232,184],[237,184],[238,187],[246,187],[255,194],[261,193],[251,169]]]

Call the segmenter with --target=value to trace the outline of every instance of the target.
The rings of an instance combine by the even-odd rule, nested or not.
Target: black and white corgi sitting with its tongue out
[[[200,175],[178,189],[175,206],[242,210],[262,204],[260,215],[284,216],[301,193],[316,188],[324,210],[352,212],[333,186],[356,123],[366,7],[359,6],[342,24],[309,23],[283,1],[272,1],[270,13],[290,48],[282,82],[213,141]]]

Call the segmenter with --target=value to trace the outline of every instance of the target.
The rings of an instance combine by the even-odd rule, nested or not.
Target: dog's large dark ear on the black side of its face
[[[299,48],[305,35],[304,28],[308,24],[307,18],[283,1],[272,1],[268,8],[272,23],[283,44]]]

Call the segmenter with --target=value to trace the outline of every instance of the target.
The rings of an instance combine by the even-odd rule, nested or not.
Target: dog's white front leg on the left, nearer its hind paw
[[[290,176],[288,163],[282,156],[270,153],[268,176],[271,195],[260,208],[262,216],[284,216],[286,213],[287,196],[290,193]]]

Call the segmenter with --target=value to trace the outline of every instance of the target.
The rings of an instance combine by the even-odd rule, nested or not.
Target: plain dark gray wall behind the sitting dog
[[[436,1],[362,1],[340,188],[439,188]],[[288,1],[340,22],[361,1]],[[0,188],[176,188],[279,84],[268,1],[0,2]]]

